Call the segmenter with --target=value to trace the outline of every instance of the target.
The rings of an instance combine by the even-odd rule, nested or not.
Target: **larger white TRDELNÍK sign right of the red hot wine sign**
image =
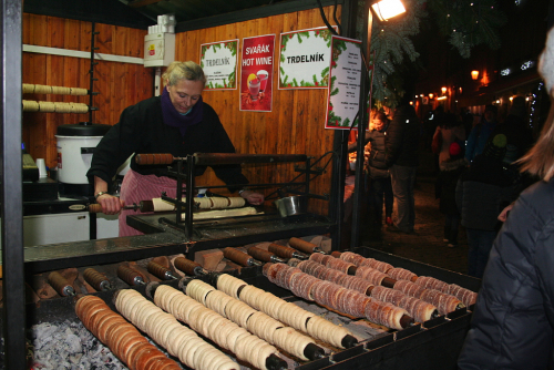
[[[327,28],[281,33],[279,89],[327,89],[330,47]]]

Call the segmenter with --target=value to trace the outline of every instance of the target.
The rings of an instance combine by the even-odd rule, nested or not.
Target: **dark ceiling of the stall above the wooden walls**
[[[343,0],[320,0],[322,6]],[[317,7],[315,0],[25,0],[23,11],[137,29],[175,14],[176,32],[222,25]]]

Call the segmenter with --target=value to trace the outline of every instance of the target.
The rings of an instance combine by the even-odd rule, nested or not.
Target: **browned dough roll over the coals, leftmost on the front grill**
[[[99,314],[91,318],[91,310]],[[162,364],[163,369],[181,369],[177,362],[151,345],[135,327],[125,321],[121,315],[112,311],[101,298],[84,296],[78,300],[75,312],[83,325],[86,322],[86,329],[92,331],[130,369],[136,369],[133,363],[143,363],[142,369],[153,370],[155,367],[160,369]],[[132,351],[133,348],[141,348],[141,351]]]

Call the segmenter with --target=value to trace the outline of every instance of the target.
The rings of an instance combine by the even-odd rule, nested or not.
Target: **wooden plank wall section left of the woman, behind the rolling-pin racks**
[[[92,23],[55,17],[23,14],[23,44],[91,51]],[[96,52],[143,58],[145,30],[95,24]],[[121,111],[154,93],[153,70],[142,64],[95,60],[93,123],[114,125]],[[23,52],[23,83],[52,86],[90,88],[90,59]],[[79,102],[89,104],[89,96],[23,94],[24,100]],[[44,158],[47,166],[57,166],[55,132],[62,124],[89,121],[89,114],[23,113],[22,141],[33,158]]]

